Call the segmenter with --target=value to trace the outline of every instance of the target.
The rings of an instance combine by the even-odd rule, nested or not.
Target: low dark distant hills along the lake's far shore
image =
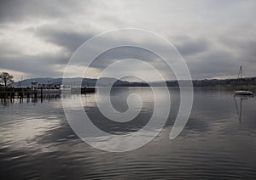
[[[90,78],[82,78],[82,77],[75,77],[75,78],[66,78],[65,82],[71,86],[87,86],[87,87],[95,87],[97,79],[90,79]],[[32,78],[26,79],[21,82],[14,82],[10,86],[12,87],[30,87],[32,82],[38,82],[41,84],[61,84],[62,78]],[[80,84],[82,82],[82,84]],[[166,82],[126,82],[117,80],[111,77],[102,77],[99,79],[99,84],[104,86],[109,86],[113,84],[114,87],[148,87],[157,86],[161,87],[164,83],[167,84],[168,87],[178,87],[177,80],[173,81],[166,81]],[[241,80],[237,79],[211,79],[211,80],[193,80],[194,87],[237,87],[237,86],[245,86],[245,87],[256,87],[256,77],[246,77],[242,78]]]

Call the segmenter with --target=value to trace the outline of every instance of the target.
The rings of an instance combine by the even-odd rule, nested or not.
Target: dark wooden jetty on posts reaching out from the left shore
[[[31,87],[0,87],[0,98],[44,98],[46,93],[59,93],[60,89]],[[96,93],[95,87],[72,87],[67,93]]]

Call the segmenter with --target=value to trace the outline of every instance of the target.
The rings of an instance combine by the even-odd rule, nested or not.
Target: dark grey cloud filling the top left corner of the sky
[[[81,4],[81,1],[3,0],[0,1],[0,22],[63,18],[72,12],[84,11],[90,3],[86,1],[85,6]]]

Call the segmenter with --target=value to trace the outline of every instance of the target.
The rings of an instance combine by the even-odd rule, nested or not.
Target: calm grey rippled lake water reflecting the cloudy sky
[[[69,127],[61,97],[52,95],[0,104],[0,178],[183,179],[256,178],[256,98],[233,97],[228,89],[195,88],[183,132],[170,140],[178,110],[178,89],[170,88],[172,109],[165,128],[150,143],[124,153],[109,153],[84,143]],[[82,95],[84,110],[102,131],[136,132],[154,110],[148,87],[114,88],[116,110],[127,110],[131,93],[143,109],[130,122],[108,121],[96,108],[95,94]],[[102,99],[104,95],[102,95]],[[77,95],[64,97],[77,98]]]

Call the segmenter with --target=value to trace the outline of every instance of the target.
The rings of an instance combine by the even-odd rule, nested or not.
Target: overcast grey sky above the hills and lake
[[[256,76],[255,9],[253,0],[2,0],[0,71],[13,74],[15,81],[21,76],[61,77],[68,59],[90,37],[118,28],[142,28],[172,42],[193,79],[236,77],[240,65],[244,76]],[[130,52],[131,58],[142,53],[107,52],[88,77],[98,77],[102,65],[124,52],[127,58]],[[141,59],[159,62],[151,53],[143,53]],[[166,73],[164,65],[158,69]],[[147,70],[139,71],[150,76]]]

